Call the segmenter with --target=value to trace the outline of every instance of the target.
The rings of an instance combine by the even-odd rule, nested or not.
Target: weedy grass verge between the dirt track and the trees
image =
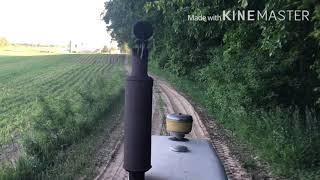
[[[243,159],[246,169],[255,170],[262,161],[275,178],[320,179],[320,126],[308,127],[308,124],[320,122],[313,110],[306,109],[304,118],[308,131],[301,131],[297,123],[301,116],[294,107],[275,107],[270,111],[246,110],[233,100],[229,100],[231,103],[220,101],[223,103],[217,105],[209,97],[205,84],[176,77],[158,68],[154,61],[149,63],[149,68],[153,74],[168,80],[179,91],[191,97],[193,102],[205,108],[219,125],[232,132],[231,138],[236,143],[247,146],[252,157]],[[216,94],[224,93],[230,92]],[[233,106],[235,104],[238,106]]]

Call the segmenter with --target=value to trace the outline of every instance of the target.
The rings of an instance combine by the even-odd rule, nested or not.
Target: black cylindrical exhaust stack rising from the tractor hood
[[[148,76],[147,40],[152,26],[140,21],[134,26],[137,48],[132,49],[132,72],[125,90],[124,169],[129,180],[144,180],[151,168],[151,116],[153,79]]]

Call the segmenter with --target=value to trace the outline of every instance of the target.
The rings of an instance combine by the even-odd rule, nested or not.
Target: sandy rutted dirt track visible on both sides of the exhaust
[[[181,94],[179,94],[168,83],[154,78],[154,97],[153,97],[153,113],[152,113],[152,134],[167,134],[163,124],[164,116],[168,113],[185,113],[192,115],[194,119],[192,132],[188,135],[191,138],[207,138],[211,141],[219,158],[224,164],[228,179],[249,179],[245,169],[241,167],[239,161],[234,157],[228,146],[219,138],[210,138],[205,124],[201,117],[196,112],[192,104]],[[206,125],[208,125],[206,123]],[[210,122],[210,126],[215,126],[214,122]],[[210,133],[212,134],[212,133]],[[212,137],[212,136],[211,136]],[[112,179],[122,180],[127,179],[128,174],[122,168],[123,166],[123,144],[119,141],[113,158],[105,166],[100,168],[99,175],[96,180]]]

